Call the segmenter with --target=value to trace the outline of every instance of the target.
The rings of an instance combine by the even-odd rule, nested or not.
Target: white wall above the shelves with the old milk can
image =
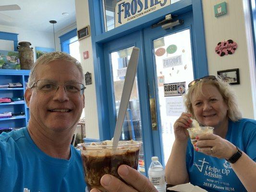
[[[0,31],[8,33],[17,33],[18,41],[28,41],[31,43],[31,47],[34,50],[34,61],[36,61],[36,47],[54,48],[53,33],[39,32],[36,30],[26,30],[19,27],[11,27],[6,25],[0,25]],[[3,43],[0,48],[10,48],[10,41]],[[13,46],[12,46],[13,48]],[[13,50],[13,49],[12,49]]]

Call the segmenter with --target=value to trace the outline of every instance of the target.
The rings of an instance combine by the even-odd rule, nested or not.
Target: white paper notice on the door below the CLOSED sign
[[[165,104],[167,116],[180,116],[185,111],[182,96],[166,97]]]

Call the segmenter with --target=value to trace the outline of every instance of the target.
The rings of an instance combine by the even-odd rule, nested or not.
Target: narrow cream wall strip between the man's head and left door
[[[87,0],[75,0],[76,25],[77,29],[90,24],[89,7]],[[85,132],[86,138],[99,139],[98,113],[96,103],[96,88],[94,78],[93,53],[91,37],[79,40],[81,64],[84,72],[92,73],[92,84],[86,85],[85,89]],[[89,51],[89,58],[84,60],[83,52]]]

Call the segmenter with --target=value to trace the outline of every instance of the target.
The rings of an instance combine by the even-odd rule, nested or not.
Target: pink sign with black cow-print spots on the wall
[[[234,42],[232,39],[229,39],[228,41],[219,42],[215,48],[215,52],[220,57],[222,57],[224,55],[232,55],[235,52],[236,48],[236,42]]]

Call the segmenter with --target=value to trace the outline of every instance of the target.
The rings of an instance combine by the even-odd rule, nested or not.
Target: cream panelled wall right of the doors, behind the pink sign
[[[214,16],[214,5],[223,0],[202,0],[206,49],[209,74],[217,75],[217,71],[239,68],[240,84],[232,85],[243,117],[254,118],[249,61],[245,34],[244,12],[242,0],[226,0],[227,14]],[[237,43],[237,50],[232,55],[219,57],[215,47],[224,39],[232,39]]]

